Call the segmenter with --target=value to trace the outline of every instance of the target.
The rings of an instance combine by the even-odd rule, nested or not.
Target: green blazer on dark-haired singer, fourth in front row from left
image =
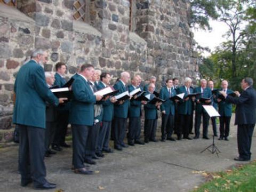
[[[105,88],[105,85],[100,81],[99,82],[99,90]],[[106,100],[102,103],[103,105],[103,116],[102,121],[112,121],[114,114],[114,104],[110,101],[110,99]]]

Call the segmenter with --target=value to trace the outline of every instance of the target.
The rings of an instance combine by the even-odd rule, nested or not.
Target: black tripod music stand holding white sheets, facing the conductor
[[[210,117],[219,117],[220,114],[218,113],[218,111],[213,107],[213,106],[206,106],[203,105],[203,108],[206,110],[206,113],[210,116]],[[220,150],[218,149],[218,147],[215,145],[214,142],[214,134],[212,136],[212,144],[206,148],[204,148],[200,153],[203,153],[205,150],[209,150],[212,154],[216,153],[217,157],[219,157],[219,153]]]

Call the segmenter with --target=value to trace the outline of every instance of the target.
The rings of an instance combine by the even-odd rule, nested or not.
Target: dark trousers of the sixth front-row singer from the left
[[[130,117],[129,118],[129,128],[128,128],[128,142],[133,143],[134,141],[140,140],[141,132],[141,122],[140,117]]]

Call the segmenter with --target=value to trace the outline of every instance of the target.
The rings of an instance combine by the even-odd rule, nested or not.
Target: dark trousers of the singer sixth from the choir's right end
[[[172,137],[173,133],[173,127],[174,127],[174,115],[171,113],[169,115],[162,114],[162,125],[161,125],[161,131],[162,131],[162,139],[170,138]]]

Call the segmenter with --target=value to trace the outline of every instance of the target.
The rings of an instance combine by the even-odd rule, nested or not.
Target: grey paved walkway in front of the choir
[[[73,173],[72,150],[65,149],[45,159],[47,179],[57,183],[57,189],[49,191],[190,191],[204,182],[204,177],[193,171],[221,171],[237,164],[233,160],[237,155],[236,127],[231,126],[230,132],[229,141],[216,141],[219,157],[209,151],[200,153],[212,140],[150,142],[106,155],[91,166],[94,175]],[[20,186],[17,157],[18,146],[0,149],[0,191],[35,191],[32,185]],[[256,158],[254,138],[252,158]]]

